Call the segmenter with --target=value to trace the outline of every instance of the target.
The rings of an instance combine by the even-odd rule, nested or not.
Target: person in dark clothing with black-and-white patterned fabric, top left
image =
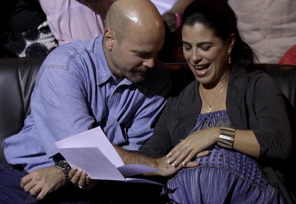
[[[0,57],[46,56],[58,44],[36,0],[12,0],[1,8]]]

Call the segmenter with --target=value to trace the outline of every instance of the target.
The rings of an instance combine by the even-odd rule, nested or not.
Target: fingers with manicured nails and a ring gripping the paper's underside
[[[92,189],[98,183],[98,180],[92,180],[86,172],[78,170],[76,167],[71,168],[69,178],[77,188],[81,189]]]

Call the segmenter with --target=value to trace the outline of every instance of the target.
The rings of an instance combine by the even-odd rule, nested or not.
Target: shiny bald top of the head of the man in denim
[[[149,0],[117,0],[107,12],[107,28],[114,32],[118,44],[134,29],[144,29],[145,32],[164,31],[162,17]]]

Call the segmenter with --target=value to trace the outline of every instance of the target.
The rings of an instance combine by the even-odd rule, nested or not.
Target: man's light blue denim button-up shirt
[[[118,83],[103,50],[103,36],[75,40],[43,62],[23,129],[3,142],[8,163],[28,172],[54,165],[55,141],[101,126],[109,141],[139,150],[152,135],[169,91],[168,71],[159,65],[141,83]]]

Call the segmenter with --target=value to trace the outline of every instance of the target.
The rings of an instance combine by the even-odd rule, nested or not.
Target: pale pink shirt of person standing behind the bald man
[[[104,32],[113,0],[39,0],[49,28],[59,45],[89,40]]]

